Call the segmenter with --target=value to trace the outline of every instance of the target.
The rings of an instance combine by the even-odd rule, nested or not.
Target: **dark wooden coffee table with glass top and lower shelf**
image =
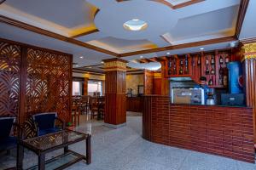
[[[64,169],[72,164],[85,160],[91,162],[90,134],[79,133],[72,130],[62,130],[56,133],[49,133],[32,139],[20,140],[18,143],[17,165],[22,169],[24,148],[32,150],[38,155],[38,166],[30,167],[29,170],[39,169]],[[68,145],[85,140],[86,156],[80,155],[73,150],[68,150]],[[54,150],[64,148],[64,154],[45,161],[45,154]]]

